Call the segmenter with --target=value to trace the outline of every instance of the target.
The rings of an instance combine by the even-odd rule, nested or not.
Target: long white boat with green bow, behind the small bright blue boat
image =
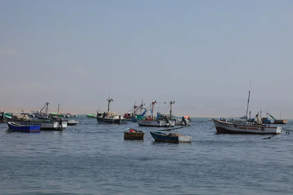
[[[4,113],[4,118],[7,122],[14,122],[19,125],[38,125],[41,126],[41,130],[48,130],[48,131],[54,131],[54,130],[64,130],[67,128],[67,122],[64,122],[62,120],[59,121],[49,121],[49,120],[21,120],[21,119],[15,119],[12,117],[11,114]]]

